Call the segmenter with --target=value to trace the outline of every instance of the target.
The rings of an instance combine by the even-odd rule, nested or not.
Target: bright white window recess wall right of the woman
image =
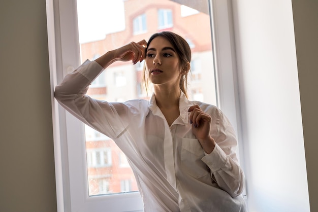
[[[309,211],[292,2],[233,11],[249,211]]]

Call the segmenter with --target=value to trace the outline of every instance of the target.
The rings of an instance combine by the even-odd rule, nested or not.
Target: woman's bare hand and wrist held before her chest
[[[215,141],[210,135],[211,116],[203,112],[199,105],[193,105],[188,112],[191,112],[189,119],[193,134],[199,140],[204,151],[210,154],[215,147]]]

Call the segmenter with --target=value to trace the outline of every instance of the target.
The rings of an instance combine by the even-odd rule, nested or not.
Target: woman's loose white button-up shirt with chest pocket
[[[180,116],[169,126],[154,95],[150,102],[123,103],[85,95],[102,71],[97,62],[86,60],[56,86],[54,95],[66,110],[112,138],[125,153],[145,211],[246,211],[235,132],[218,108],[189,101],[181,92]],[[210,154],[192,133],[188,109],[195,104],[212,117],[216,146]]]

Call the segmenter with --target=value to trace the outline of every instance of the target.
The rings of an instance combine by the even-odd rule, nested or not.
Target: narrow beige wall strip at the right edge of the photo
[[[310,211],[318,211],[318,1],[292,3]]]

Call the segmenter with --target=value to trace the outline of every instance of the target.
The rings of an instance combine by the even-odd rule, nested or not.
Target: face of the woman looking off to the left
[[[146,52],[146,73],[154,85],[177,86],[181,78],[179,57],[164,37],[154,38]]]

